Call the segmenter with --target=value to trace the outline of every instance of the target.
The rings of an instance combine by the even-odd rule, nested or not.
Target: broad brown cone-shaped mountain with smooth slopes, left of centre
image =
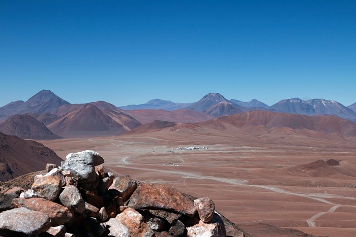
[[[90,104],[65,114],[48,127],[66,138],[119,135],[126,131],[123,125]]]

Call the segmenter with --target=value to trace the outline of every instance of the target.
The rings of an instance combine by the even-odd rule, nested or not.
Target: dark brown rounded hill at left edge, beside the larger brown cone
[[[51,140],[61,137],[28,114],[17,114],[0,124],[0,131],[22,139]]]

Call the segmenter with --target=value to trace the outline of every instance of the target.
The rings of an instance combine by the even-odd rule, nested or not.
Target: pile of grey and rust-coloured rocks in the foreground
[[[210,198],[114,176],[103,163],[94,151],[72,153],[31,189],[2,193],[0,236],[226,236]]]

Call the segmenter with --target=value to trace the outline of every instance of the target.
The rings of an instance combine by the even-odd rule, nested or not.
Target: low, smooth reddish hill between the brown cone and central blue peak
[[[213,116],[193,110],[128,110],[125,111],[141,123],[150,123],[154,120],[170,121],[176,123],[196,123],[214,118]]]

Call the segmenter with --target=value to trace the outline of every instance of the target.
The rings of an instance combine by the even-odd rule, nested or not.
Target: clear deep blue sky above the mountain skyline
[[[356,1],[0,1],[0,106],[356,102]]]

